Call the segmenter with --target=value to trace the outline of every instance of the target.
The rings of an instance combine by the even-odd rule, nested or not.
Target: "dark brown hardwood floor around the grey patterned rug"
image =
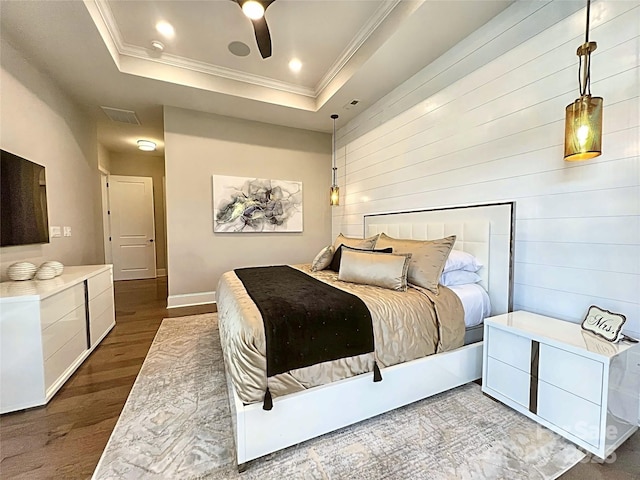
[[[0,416],[0,478],[90,478],[163,318],[215,311],[167,310],[166,278],[116,282],[116,327],[44,407]],[[562,479],[640,479],[640,432],[613,463],[588,459]],[[403,479],[404,480],[404,479]]]

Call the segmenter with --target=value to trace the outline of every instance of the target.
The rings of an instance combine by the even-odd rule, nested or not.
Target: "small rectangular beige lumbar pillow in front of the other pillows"
[[[338,280],[404,292],[410,260],[410,253],[397,255],[345,249]]]

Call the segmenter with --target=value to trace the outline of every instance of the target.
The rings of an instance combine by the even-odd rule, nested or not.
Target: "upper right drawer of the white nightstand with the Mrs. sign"
[[[590,358],[540,345],[538,378],[597,405],[602,404],[602,363]]]

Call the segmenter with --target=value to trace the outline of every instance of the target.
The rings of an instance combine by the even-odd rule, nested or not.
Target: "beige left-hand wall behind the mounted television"
[[[46,167],[49,225],[71,227],[71,237],[0,249],[1,279],[17,261],[103,263],[95,122],[6,38],[0,49],[0,147]]]

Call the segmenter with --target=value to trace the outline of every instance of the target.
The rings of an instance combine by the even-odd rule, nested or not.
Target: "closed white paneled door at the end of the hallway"
[[[156,277],[153,179],[109,176],[114,280]]]

